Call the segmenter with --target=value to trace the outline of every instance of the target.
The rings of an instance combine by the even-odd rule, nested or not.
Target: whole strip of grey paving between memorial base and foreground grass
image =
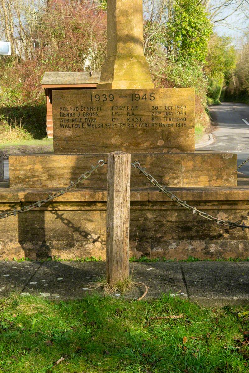
[[[1,261],[0,297],[15,291],[52,300],[80,299],[89,294],[89,282],[103,273],[105,262]],[[211,307],[249,304],[248,261],[135,263],[133,275],[149,286],[145,300],[169,293]],[[135,288],[129,298],[143,292]]]

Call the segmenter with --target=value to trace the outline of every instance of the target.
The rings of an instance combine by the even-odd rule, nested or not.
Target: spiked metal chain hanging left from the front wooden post
[[[96,166],[92,165],[91,170],[86,171],[85,173],[80,175],[80,177],[77,179],[77,181],[75,181],[75,182],[71,181],[71,184],[69,186],[67,186],[66,188],[63,188],[63,189],[61,189],[60,191],[58,191],[54,194],[51,194],[51,195],[49,194],[49,197],[46,198],[45,200],[37,201],[37,202],[33,203],[32,205],[24,206],[19,210],[14,209],[13,211],[2,212],[2,213],[0,213],[0,219],[4,219],[5,217],[11,216],[11,215],[16,216],[17,214],[20,214],[22,212],[27,212],[27,211],[30,211],[32,209],[35,209],[36,207],[41,207],[45,203],[47,203],[49,201],[52,201],[53,199],[55,199],[57,197],[60,197],[60,195],[63,195],[66,192],[68,192],[70,189],[74,188],[74,186],[76,188],[76,185],[79,184],[80,182],[83,182],[85,179],[88,179],[94,171],[97,172],[98,167],[102,167],[102,166],[104,166],[104,164],[106,164],[106,162],[103,159],[100,159]]]

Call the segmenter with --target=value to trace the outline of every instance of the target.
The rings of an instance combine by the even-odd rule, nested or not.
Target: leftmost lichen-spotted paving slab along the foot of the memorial
[[[31,261],[0,262],[0,298],[7,297],[10,292],[22,292],[39,269],[41,263]]]

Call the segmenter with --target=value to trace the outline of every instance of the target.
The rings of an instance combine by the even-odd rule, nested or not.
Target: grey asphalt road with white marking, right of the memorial
[[[249,157],[249,105],[222,103],[209,110],[214,121],[214,142],[198,151],[237,153],[239,165]],[[249,162],[240,171],[249,175]]]

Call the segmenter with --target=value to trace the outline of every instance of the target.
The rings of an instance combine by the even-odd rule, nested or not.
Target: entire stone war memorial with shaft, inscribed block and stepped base
[[[154,87],[143,53],[142,0],[107,3],[97,89],[54,90],[54,154],[9,157],[0,210],[2,217],[15,210],[0,220],[0,258],[105,258],[107,181],[121,194],[130,188],[130,226],[119,226],[130,231],[130,256],[136,247],[137,257],[248,257],[248,229],[240,228],[248,225],[249,188],[242,174],[237,180],[236,154],[194,151],[194,89]],[[116,163],[107,177],[109,153],[119,151],[136,167],[127,158],[126,174]],[[96,167],[99,160],[109,164]],[[25,207],[30,211],[19,213]],[[119,219],[113,213],[122,225]]]

